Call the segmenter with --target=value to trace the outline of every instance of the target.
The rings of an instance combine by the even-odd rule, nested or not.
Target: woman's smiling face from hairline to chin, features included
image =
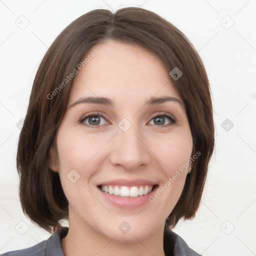
[[[185,108],[153,53],[111,40],[88,54],[95,48],[74,77],[50,167],[69,223],[109,239],[145,239],[163,232],[184,186],[189,167],[177,170],[192,152]]]

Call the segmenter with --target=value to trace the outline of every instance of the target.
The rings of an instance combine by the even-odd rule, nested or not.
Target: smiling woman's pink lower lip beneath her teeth
[[[158,185],[157,185],[158,186]],[[140,206],[143,206],[147,202],[149,202],[149,197],[155,192],[155,188],[148,194],[144,195],[138,195],[138,196],[129,196],[129,197],[121,197],[114,194],[109,194],[106,192],[103,192],[100,188],[98,188],[99,192],[102,194],[105,200],[110,202],[111,204],[119,207],[119,208],[138,208]]]

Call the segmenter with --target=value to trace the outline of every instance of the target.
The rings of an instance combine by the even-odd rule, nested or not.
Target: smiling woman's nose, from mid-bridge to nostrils
[[[117,132],[112,139],[110,161],[126,170],[135,170],[149,164],[152,153],[146,145],[146,137],[142,135],[135,125],[123,131],[117,127]]]

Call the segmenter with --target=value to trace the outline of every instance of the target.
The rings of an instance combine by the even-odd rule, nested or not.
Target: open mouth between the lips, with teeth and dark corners
[[[134,198],[147,195],[152,192],[158,185],[144,184],[134,186],[124,185],[98,185],[97,188],[107,194],[116,195],[118,197]]]

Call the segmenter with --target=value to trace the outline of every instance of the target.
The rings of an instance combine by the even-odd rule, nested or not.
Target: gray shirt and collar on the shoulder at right
[[[188,247],[187,243],[172,230],[164,231],[164,247],[166,252],[171,251],[174,256],[202,256]],[[168,255],[168,254],[166,254]]]

